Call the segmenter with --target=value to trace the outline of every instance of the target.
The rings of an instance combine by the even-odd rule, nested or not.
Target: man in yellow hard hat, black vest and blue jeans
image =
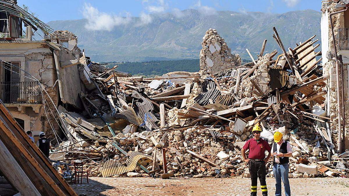
[[[282,139],[282,133],[274,133],[274,145],[272,153],[274,155],[273,173],[276,180],[275,195],[281,196],[281,179],[284,184],[285,195],[291,195],[290,183],[288,180],[289,157],[292,156],[292,147],[289,142]]]

